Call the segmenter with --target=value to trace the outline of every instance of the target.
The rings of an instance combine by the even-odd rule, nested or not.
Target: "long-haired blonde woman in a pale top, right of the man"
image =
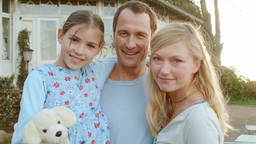
[[[190,23],[171,23],[151,42],[147,120],[154,143],[223,143],[228,114],[203,38]]]

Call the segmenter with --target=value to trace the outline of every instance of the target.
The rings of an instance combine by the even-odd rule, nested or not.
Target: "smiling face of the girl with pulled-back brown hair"
[[[92,28],[80,29],[76,35],[76,29],[83,27],[82,24],[75,25],[64,34],[61,29],[58,31],[58,40],[61,44],[61,55],[55,62],[56,66],[79,69],[90,63],[94,56],[98,55],[102,45],[96,31]]]

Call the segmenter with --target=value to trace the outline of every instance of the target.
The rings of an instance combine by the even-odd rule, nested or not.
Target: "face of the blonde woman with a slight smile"
[[[152,55],[152,74],[162,91],[178,91],[186,87],[199,67],[200,63],[193,60],[182,41],[161,48]]]

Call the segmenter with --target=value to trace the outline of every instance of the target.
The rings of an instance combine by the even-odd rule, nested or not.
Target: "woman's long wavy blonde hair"
[[[150,64],[152,55],[156,51],[178,41],[186,43],[195,61],[201,61],[201,66],[194,74],[193,80],[188,87],[195,85],[199,89],[216,113],[223,134],[226,134],[227,130],[231,128],[229,125],[229,115],[226,110],[227,101],[223,96],[216,70],[209,60],[203,35],[199,31],[199,27],[187,22],[173,22],[160,29],[151,41]],[[165,128],[169,124],[172,104],[169,100],[165,99],[167,93],[159,89],[156,81],[154,81],[151,70],[147,77],[147,83],[152,96],[152,100],[147,106],[147,121],[152,129],[152,134],[155,135],[158,134],[159,127]]]

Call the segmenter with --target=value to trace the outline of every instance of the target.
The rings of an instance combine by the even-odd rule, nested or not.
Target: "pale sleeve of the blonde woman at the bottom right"
[[[188,144],[216,144],[223,143],[223,134],[219,132],[219,125],[212,119],[201,119],[188,132]]]

